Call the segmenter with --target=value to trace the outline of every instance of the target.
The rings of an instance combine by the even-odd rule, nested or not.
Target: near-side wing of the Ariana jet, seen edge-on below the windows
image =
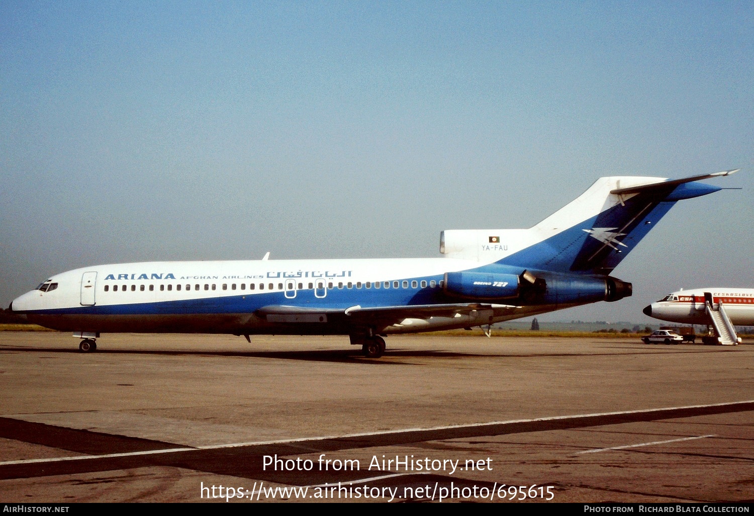
[[[507,315],[518,309],[512,305],[490,303],[452,303],[443,305],[407,305],[407,306],[351,306],[347,309],[302,308],[299,306],[264,306],[256,314],[269,322],[326,322],[338,319],[354,325],[381,324],[389,326],[404,319],[428,319],[431,317],[455,317],[472,315],[482,310],[492,311],[492,315]]]

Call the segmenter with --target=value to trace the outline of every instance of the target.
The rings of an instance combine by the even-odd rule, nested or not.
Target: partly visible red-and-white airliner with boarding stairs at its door
[[[645,307],[645,315],[713,327],[720,344],[741,342],[735,326],[754,325],[754,288],[707,287],[679,290]]]

